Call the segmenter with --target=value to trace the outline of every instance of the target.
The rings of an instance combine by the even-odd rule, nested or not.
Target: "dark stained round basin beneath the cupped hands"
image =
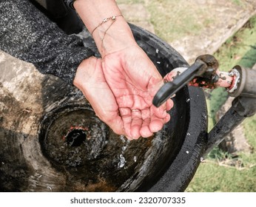
[[[187,65],[164,41],[130,27],[161,75]],[[90,35],[81,38],[95,48]],[[13,89],[27,94],[22,102],[4,87],[11,71],[4,72],[0,191],[183,191],[195,174],[206,143],[201,89],[177,93],[161,132],[128,141],[95,116],[75,87],[50,75],[30,76]]]

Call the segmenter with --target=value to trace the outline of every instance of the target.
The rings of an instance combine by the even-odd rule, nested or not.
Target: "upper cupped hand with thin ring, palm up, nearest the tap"
[[[146,53],[134,44],[105,55],[102,66],[127,138],[147,138],[162,129],[170,119],[166,111],[173,102],[169,100],[159,108],[152,105],[155,93],[164,83]]]

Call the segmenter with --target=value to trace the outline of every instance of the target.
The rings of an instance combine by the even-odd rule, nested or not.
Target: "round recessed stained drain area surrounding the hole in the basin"
[[[109,128],[90,109],[64,106],[45,115],[40,129],[42,152],[56,168],[87,166],[104,153]]]

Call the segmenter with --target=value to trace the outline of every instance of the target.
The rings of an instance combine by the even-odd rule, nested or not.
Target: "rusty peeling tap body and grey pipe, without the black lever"
[[[206,152],[204,153],[204,155],[207,155],[215,146],[218,146],[226,135],[242,123],[245,118],[255,115],[256,70],[235,66],[229,72],[220,72],[218,70],[218,61],[214,57],[211,55],[201,55],[199,58],[206,62],[208,70],[206,70],[204,74],[190,79],[191,81],[189,81],[188,85],[209,89],[224,87],[227,92],[229,92],[230,96],[236,97],[235,100],[232,101],[231,108],[213,127],[212,131],[209,132]],[[186,70],[191,70],[191,68],[181,67],[173,69],[172,72],[169,72],[164,77],[164,81],[167,84],[173,83],[177,81],[177,77],[182,75]],[[173,88],[174,87],[172,87],[172,89]],[[167,90],[166,92],[168,93]]]

